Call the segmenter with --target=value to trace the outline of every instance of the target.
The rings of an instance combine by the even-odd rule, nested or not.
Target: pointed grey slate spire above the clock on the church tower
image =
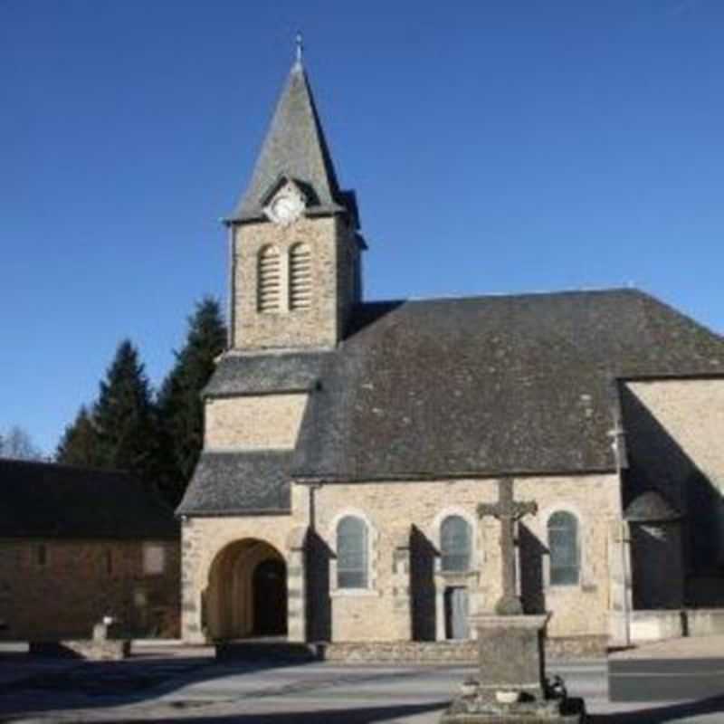
[[[302,52],[298,34],[296,58],[277,102],[252,181],[229,221],[262,218],[268,195],[284,177],[300,184],[310,211],[324,214],[344,209],[310,83],[301,64]]]

